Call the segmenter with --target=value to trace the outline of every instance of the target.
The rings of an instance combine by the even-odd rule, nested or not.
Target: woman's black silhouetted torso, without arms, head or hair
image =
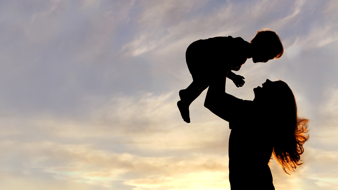
[[[229,137],[231,189],[273,190],[268,166],[272,154],[269,123],[262,118],[264,114],[258,111],[254,102],[242,101],[240,117],[229,123],[232,127]]]

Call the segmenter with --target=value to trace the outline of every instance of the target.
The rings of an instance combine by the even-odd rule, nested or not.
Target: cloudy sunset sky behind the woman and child
[[[338,1],[0,1],[0,189],[230,190],[228,122],[203,102],[177,109],[192,81],[189,44],[217,36],[250,41],[270,28],[277,60],[227,80],[252,100],[267,78],[293,90],[310,119],[304,164],[278,190],[338,186]],[[245,156],[243,154],[243,156]],[[255,166],[248,169],[255,169]]]

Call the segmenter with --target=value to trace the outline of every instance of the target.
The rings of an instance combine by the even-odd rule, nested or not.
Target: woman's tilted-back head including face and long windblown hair
[[[267,79],[262,87],[254,89],[255,102],[261,106],[273,132],[273,154],[283,170],[294,171],[300,165],[303,144],[308,140],[309,120],[298,118],[297,106],[290,87],[283,81]],[[289,173],[288,173],[289,174]]]

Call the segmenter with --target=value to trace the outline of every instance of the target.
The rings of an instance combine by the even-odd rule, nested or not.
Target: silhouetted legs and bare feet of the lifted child
[[[188,88],[179,91],[180,101],[177,102],[177,107],[183,120],[190,123],[189,105],[205,90],[209,85],[204,82],[193,81]]]

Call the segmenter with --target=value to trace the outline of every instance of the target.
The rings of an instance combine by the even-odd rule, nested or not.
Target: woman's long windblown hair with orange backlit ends
[[[274,106],[272,110],[277,108],[269,116],[274,125],[273,134],[276,135],[273,138],[273,156],[284,172],[290,175],[288,171],[295,171],[297,166],[303,164],[300,155],[304,153],[303,144],[309,139],[309,120],[298,118],[295,97],[285,82],[276,81],[272,88],[269,95],[272,98],[268,101],[270,106]]]

